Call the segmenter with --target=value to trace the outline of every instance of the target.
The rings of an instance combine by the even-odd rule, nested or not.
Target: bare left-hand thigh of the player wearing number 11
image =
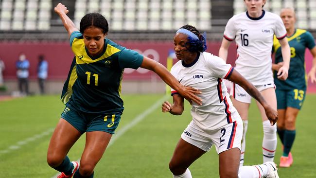
[[[75,127],[61,118],[53,132],[48,147],[47,160],[49,164],[58,166],[81,135]]]

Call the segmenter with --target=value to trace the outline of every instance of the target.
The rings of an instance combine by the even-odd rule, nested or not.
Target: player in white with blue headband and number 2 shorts
[[[223,78],[242,86],[264,107],[274,125],[277,111],[270,107],[260,92],[223,59],[205,52],[206,38],[191,26],[181,27],[174,37],[176,57],[180,60],[171,73],[184,86],[199,89],[203,104],[192,105],[193,120],[184,130],[177,143],[169,168],[174,178],[192,178],[188,167],[214,145],[219,155],[221,178],[279,178],[276,164],[272,161],[239,168],[243,122],[229,99]],[[182,114],[184,98],[171,89],[173,104],[165,101],[162,112]]]

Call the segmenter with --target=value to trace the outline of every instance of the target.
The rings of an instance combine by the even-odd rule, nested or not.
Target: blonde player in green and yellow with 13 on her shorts
[[[313,67],[307,76],[312,83],[316,83],[316,47],[315,39],[311,33],[295,28],[296,18],[293,8],[282,9],[281,19],[285,25],[291,49],[291,62],[287,80],[279,80],[276,75],[283,61],[280,43],[276,40],[276,37],[273,43],[275,64],[273,64],[272,68],[275,70],[274,83],[277,86],[276,94],[279,113],[277,130],[284,146],[280,167],[290,167],[293,163],[290,150],[296,135],[295,122],[306,93],[305,49],[308,48],[313,55]]]

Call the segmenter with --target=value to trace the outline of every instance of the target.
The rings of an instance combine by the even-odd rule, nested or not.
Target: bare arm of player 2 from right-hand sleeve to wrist
[[[228,80],[234,82],[235,84],[238,84],[243,89],[245,89],[246,92],[250,94],[250,96],[252,96],[254,99],[256,99],[264,108],[267,106],[267,103],[261,95],[260,91],[258,91],[255,86],[248,82],[246,78],[243,77],[238,71],[233,70]]]

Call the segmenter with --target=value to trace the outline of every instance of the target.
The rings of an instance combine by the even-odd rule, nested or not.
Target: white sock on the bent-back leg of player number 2
[[[268,166],[265,164],[243,166],[239,168],[238,178],[263,178],[267,174]]]

